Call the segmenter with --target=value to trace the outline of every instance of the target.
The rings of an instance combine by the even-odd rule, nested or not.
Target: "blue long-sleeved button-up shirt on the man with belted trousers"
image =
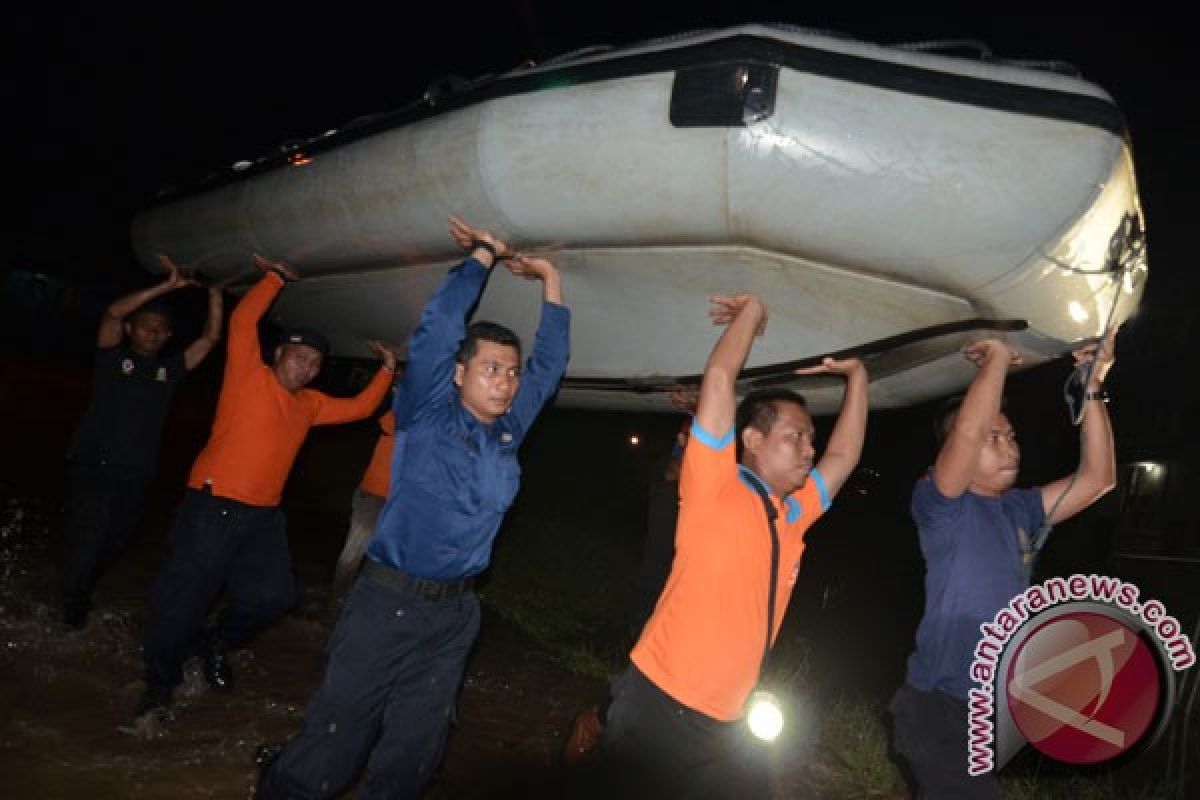
[[[566,371],[570,312],[544,302],[512,407],[492,425],[462,404],[455,354],[488,270],[467,259],[433,294],[396,392],[388,503],[367,546],[376,561],[433,581],[482,572],[521,482],[517,447]]]

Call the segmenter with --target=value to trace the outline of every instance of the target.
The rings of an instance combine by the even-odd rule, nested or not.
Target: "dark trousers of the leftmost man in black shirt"
[[[114,464],[71,464],[62,601],[86,612],[101,576],[113,565],[142,521],[152,473]]]

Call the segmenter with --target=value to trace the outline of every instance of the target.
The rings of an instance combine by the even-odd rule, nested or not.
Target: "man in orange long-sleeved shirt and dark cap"
[[[396,356],[372,342],[383,368],[358,396],[335,398],[306,389],[329,349],[323,336],[308,330],[288,332],[275,349],[274,363],[264,363],[258,321],[284,283],[299,278],[286,265],[258,255],[254,264],[265,275],[229,318],[229,351],[212,433],[192,465],[172,527],[170,552],[151,588],[146,692],[139,716],[162,716],[222,588],[228,603],[199,644],[209,685],[232,687],[227,648],[248,642],[295,601],[278,506],[308,428],[368,416],[391,385]]]

